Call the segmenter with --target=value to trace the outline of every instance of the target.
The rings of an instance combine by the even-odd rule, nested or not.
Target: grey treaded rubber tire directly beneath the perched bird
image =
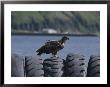
[[[44,60],[44,76],[45,77],[62,77],[63,76],[63,60],[59,57],[51,57]]]

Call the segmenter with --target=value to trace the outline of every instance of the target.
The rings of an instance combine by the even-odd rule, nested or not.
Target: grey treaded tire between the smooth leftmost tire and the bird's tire
[[[43,77],[43,60],[40,56],[25,56],[26,77]]]

